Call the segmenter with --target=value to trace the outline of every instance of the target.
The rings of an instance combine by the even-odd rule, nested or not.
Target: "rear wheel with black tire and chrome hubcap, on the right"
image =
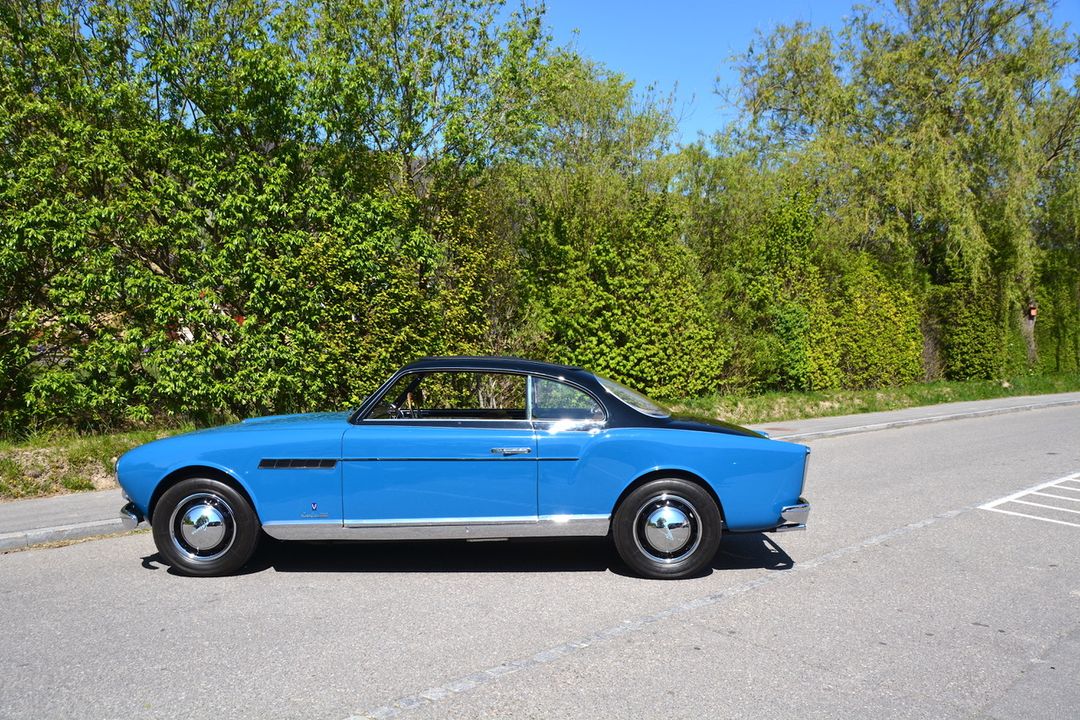
[[[721,526],[720,508],[700,485],[663,478],[626,495],[616,510],[611,535],[631,570],[645,578],[677,580],[712,562]]]

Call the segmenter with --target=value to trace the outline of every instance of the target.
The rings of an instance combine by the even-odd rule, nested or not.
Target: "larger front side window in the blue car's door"
[[[525,420],[525,376],[500,372],[410,372],[379,398],[376,420]]]

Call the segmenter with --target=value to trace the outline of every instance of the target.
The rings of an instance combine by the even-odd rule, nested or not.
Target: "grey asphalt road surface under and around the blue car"
[[[1077,717],[1080,481],[1037,486],[1080,472],[1080,409],[810,445],[810,529],[689,581],[600,542],[0,556],[0,718]]]

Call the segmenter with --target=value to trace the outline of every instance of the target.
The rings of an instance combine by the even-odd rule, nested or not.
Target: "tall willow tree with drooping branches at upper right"
[[[1063,84],[1078,42],[1044,2],[901,1],[856,10],[839,36],[778,28],[742,64],[745,140],[804,178],[827,243],[870,252],[916,287],[994,295],[923,304],[1000,328],[982,376],[1003,371],[1035,291],[1035,201],[1080,127]],[[963,362],[944,355],[947,373]]]

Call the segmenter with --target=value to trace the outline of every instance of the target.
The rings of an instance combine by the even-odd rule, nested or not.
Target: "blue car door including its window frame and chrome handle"
[[[346,527],[536,522],[526,393],[523,375],[402,376],[342,437]]]

